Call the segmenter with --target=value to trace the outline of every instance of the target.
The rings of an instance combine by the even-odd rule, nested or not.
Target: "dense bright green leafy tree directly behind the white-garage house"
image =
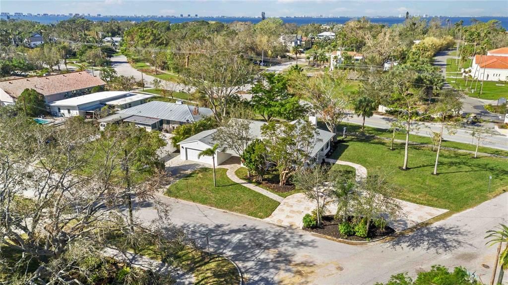
[[[253,109],[269,122],[274,117],[293,121],[302,118],[306,108],[300,99],[288,91],[288,78],[282,74],[265,73],[263,81],[252,87],[251,104]]]

